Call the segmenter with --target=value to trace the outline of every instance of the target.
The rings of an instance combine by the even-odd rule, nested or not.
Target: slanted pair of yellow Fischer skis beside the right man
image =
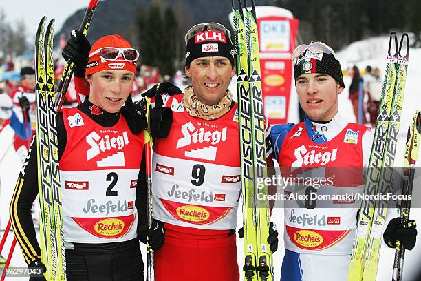
[[[404,47],[406,53],[402,55]],[[394,53],[392,53],[392,49],[394,49]],[[367,167],[365,177],[364,194],[366,196],[393,192],[393,163],[398,142],[404,86],[407,79],[408,34],[402,35],[398,46],[396,32],[391,32],[388,53],[382,98],[380,99],[369,167]],[[347,281],[376,280],[387,204],[387,200],[363,200],[358,216]]]

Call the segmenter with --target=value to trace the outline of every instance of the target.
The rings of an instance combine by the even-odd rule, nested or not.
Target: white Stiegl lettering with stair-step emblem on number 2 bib
[[[89,161],[95,156],[98,156],[100,152],[121,150],[125,145],[129,144],[129,138],[126,131],[123,132],[122,135],[112,136],[111,138],[109,134],[105,134],[105,136],[102,136],[101,138],[101,136],[94,131],[86,137],[86,142],[91,146],[91,148],[87,150],[87,160]],[[105,162],[102,163],[103,161]],[[108,157],[101,161],[97,161],[97,165],[98,167],[124,166],[124,161],[124,152],[117,152],[114,158]]]

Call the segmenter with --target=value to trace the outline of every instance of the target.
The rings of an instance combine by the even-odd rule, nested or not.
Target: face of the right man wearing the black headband
[[[327,74],[301,74],[296,92],[304,112],[313,121],[330,121],[338,112],[338,94],[343,87]]]

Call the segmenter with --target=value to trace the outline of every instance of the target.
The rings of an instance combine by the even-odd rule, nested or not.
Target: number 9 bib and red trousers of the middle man
[[[237,104],[206,121],[186,112],[183,94],[163,95],[163,100],[173,110],[173,124],[169,136],[158,138],[153,146],[153,218],[166,229],[164,246],[155,252],[155,278],[239,280]],[[271,150],[268,145],[270,159]]]

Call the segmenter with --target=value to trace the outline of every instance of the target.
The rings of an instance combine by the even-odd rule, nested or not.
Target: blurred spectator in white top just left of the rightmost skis
[[[376,119],[378,115],[378,107],[380,98],[382,97],[383,79],[380,77],[380,70],[376,67],[372,74],[364,79],[364,89],[368,94],[368,112],[370,114],[370,123],[372,127],[376,127]]]

